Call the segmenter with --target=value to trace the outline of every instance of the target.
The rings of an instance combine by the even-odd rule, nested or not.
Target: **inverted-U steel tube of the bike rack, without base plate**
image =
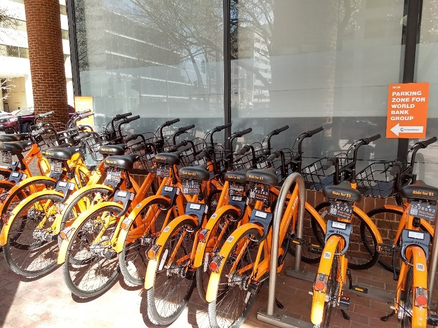
[[[284,202],[286,196],[289,193],[290,186],[297,181],[298,183],[298,195],[299,195],[299,208],[298,208],[298,237],[303,237],[303,224],[304,224],[304,205],[306,203],[306,187],[301,174],[293,173],[286,178],[278,196],[277,204],[275,206],[274,218],[272,222],[272,242],[271,242],[271,263],[269,272],[269,296],[267,315],[274,315],[274,303],[275,303],[275,283],[277,280],[277,265],[278,265],[278,238],[280,236],[280,222],[281,214],[283,212]],[[435,238],[438,239],[438,238]],[[296,249],[295,268],[300,269],[301,264],[301,245]]]

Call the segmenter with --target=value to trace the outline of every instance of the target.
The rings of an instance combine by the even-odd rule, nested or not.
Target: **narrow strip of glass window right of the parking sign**
[[[429,83],[429,104],[427,110],[426,139],[438,136],[438,3],[423,0],[419,44],[417,44],[416,82]],[[409,140],[410,144],[418,141]],[[415,171],[418,179],[438,187],[438,143],[418,151]]]

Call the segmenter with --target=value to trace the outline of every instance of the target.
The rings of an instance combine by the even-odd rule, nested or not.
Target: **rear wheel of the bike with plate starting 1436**
[[[160,265],[154,273],[154,285],[147,291],[148,315],[155,324],[170,324],[174,322],[184,310],[196,284],[196,279],[188,280],[184,276],[185,270],[190,265],[190,259],[180,267],[174,268],[172,267],[173,264],[164,267],[169,254],[176,252],[175,256],[180,258],[179,253],[185,256],[191,253],[196,233],[191,232],[189,238],[185,238],[182,234],[186,227],[190,227],[193,230],[196,224],[192,220],[186,219],[176,225],[172,231],[169,231],[168,239],[163,245],[163,251],[157,259]],[[184,239],[187,239],[187,243]],[[174,249],[173,243],[179,240],[181,242],[176,242],[176,245],[179,244],[178,249]],[[161,265],[162,263],[163,266]],[[171,285],[173,282],[175,284]],[[173,295],[172,293],[171,295],[170,291],[180,292],[180,294]],[[163,299],[163,297],[166,298]],[[170,313],[163,313],[166,309],[169,309]]]

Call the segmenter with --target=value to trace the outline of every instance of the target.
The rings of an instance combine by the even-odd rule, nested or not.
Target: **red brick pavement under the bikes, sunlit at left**
[[[62,279],[62,269],[56,268],[51,273],[37,278],[26,279],[9,270],[3,256],[0,255],[0,323],[3,327],[155,327],[146,314],[146,297],[141,287],[127,287],[121,278],[102,296],[93,299],[72,297]],[[285,267],[293,265],[294,258],[287,256]],[[316,266],[304,265],[315,271]],[[278,274],[277,298],[284,309],[276,312],[309,321],[311,283],[298,281],[285,276],[285,270]],[[374,282],[375,286],[395,289],[391,274],[378,265],[367,271],[352,271],[353,280]],[[361,278],[358,278],[361,277]],[[364,280],[368,279],[368,280]],[[256,319],[257,310],[266,307],[268,289],[261,289],[256,298],[253,311],[244,323],[244,327],[268,327],[270,325]],[[391,310],[389,304],[363,296],[350,296],[351,320],[345,320],[335,309],[332,314],[333,327],[396,327],[396,317],[388,322],[380,321],[382,315]],[[436,294],[435,294],[436,295]],[[172,328],[208,326],[205,314],[206,306],[193,292],[192,299],[179,319],[170,325]],[[270,326],[272,327],[272,326]]]

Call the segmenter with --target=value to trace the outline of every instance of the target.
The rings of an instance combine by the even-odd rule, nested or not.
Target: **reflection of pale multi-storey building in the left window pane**
[[[175,44],[141,17],[99,2],[77,3],[85,6],[76,17],[84,34],[78,38],[82,93],[94,97],[98,112],[223,115],[223,82],[217,81],[222,75],[216,74],[214,54]]]

